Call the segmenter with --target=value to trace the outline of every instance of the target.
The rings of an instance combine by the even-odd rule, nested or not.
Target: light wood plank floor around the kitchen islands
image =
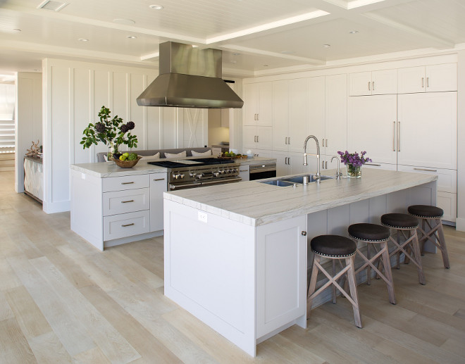
[[[465,234],[446,228],[452,268],[423,258],[359,286],[363,329],[345,299],[316,308],[250,358],[163,296],[163,239],[103,253],[46,215],[0,172],[0,363],[465,363]]]

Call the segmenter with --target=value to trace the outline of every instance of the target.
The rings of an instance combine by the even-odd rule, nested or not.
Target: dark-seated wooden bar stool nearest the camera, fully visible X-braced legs
[[[310,318],[311,303],[318,294],[321,294],[331,284],[352,303],[354,308],[354,322],[356,327],[361,327],[361,317],[359,309],[359,296],[356,291],[355,273],[354,273],[354,255],[356,251],[356,244],[352,239],[347,237],[341,237],[339,235],[320,235],[314,237],[310,242],[311,251],[314,252],[314,261],[311,268],[311,277],[307,289],[307,301],[306,301],[306,318]],[[345,259],[345,267],[335,274],[335,264],[333,264],[333,275],[330,275],[320,264],[321,257],[329,258],[335,262],[335,260]],[[323,286],[316,289],[316,278],[318,276],[318,270],[328,278],[328,282],[325,282]],[[350,294],[343,289],[337,280],[343,275],[347,275],[347,281],[349,282]],[[335,302],[335,289],[333,290],[333,302]]]

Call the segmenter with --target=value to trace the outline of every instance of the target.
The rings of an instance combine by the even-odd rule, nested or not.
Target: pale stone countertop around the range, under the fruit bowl
[[[202,157],[189,157],[182,159],[199,159]],[[211,158],[209,156],[208,158]],[[180,160],[181,158],[172,158],[175,160]],[[141,159],[134,167],[132,168],[120,168],[114,162],[101,162],[101,163],[81,163],[81,164],[72,164],[70,168],[72,170],[77,170],[77,172],[86,173],[88,175],[93,175],[94,177],[106,178],[106,177],[121,177],[129,175],[145,175],[147,173],[163,173],[166,172],[166,168],[159,167],[157,165],[147,164],[147,161],[157,161],[156,159]],[[160,160],[158,160],[160,161]],[[161,161],[169,161],[169,159],[163,158]],[[241,165],[247,164],[257,164],[264,162],[275,162],[273,158],[264,158],[264,157],[254,157],[254,158],[240,158],[236,160],[240,162]]]

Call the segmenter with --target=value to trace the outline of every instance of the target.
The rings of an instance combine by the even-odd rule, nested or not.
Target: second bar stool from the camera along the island
[[[356,253],[358,253],[365,262],[355,271],[355,275],[366,269],[366,283],[370,285],[371,268],[373,268],[377,275],[383,278],[383,280],[386,282],[389,301],[395,305],[394,283],[392,282],[389,250],[387,249],[387,241],[389,240],[391,234],[390,230],[382,225],[366,223],[350,225],[347,230],[350,237],[356,240],[356,243],[358,241],[366,242],[366,256],[364,253],[361,253],[357,246]],[[379,251],[377,248],[378,244],[380,246]],[[373,257],[371,256],[372,248],[376,253]],[[377,261],[383,262],[384,274],[380,272],[378,268],[376,268],[375,264]]]

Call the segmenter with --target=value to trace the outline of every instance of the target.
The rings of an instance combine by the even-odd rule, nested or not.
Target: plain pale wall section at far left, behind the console
[[[24,192],[24,156],[32,142],[42,145],[42,73],[16,75],[15,191]]]

